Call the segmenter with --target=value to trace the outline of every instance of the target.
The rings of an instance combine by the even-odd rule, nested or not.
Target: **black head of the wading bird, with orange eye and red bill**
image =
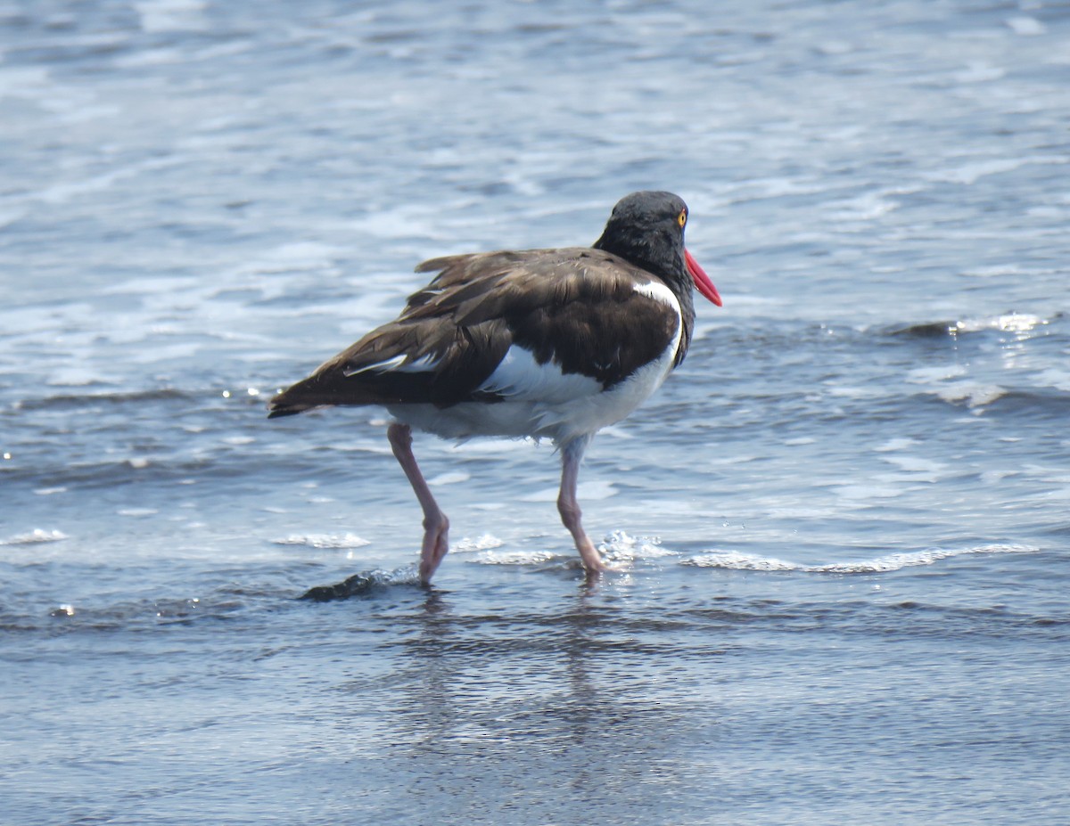
[[[672,193],[626,195],[609,216],[594,246],[620,256],[663,280],[690,305],[691,286],[714,304],[721,297],[709,277],[684,247],[687,204]]]

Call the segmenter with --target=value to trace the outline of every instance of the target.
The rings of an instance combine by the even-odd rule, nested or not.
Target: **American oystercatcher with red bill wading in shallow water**
[[[424,510],[419,578],[448,550],[449,520],[412,453],[412,428],[445,439],[549,437],[561,450],[557,510],[588,576],[609,567],[580,522],[580,461],[684,361],[692,286],[721,306],[684,247],[687,205],[633,193],[592,247],[476,253],[425,261],[438,273],[395,320],[271,400],[269,417],[381,404],[387,437]]]

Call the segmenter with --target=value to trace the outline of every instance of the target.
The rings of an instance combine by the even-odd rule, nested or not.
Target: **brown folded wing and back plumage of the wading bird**
[[[538,364],[609,387],[661,355],[679,323],[672,307],[636,291],[654,276],[586,247],[450,256],[416,271],[439,275],[397,320],[276,396],[271,415],[324,404],[495,401],[479,387],[514,343]]]

